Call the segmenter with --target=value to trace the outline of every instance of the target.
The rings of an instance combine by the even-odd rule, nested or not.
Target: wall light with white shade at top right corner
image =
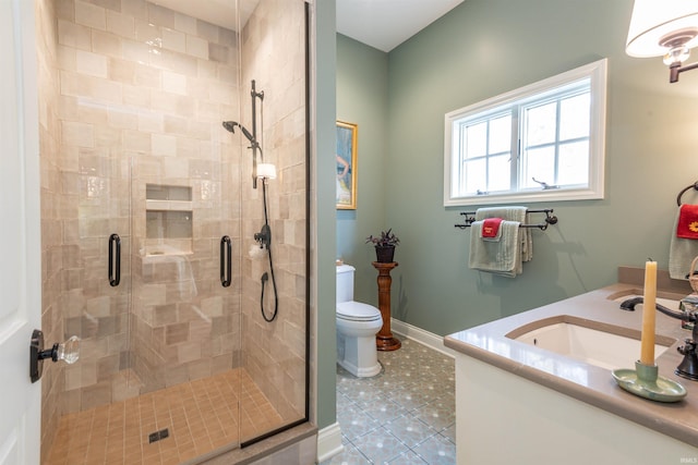
[[[695,70],[683,66],[689,49],[698,46],[698,0],[635,0],[625,52],[630,57],[664,57],[669,82],[678,73]]]

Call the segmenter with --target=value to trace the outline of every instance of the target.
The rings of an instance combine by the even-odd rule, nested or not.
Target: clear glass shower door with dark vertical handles
[[[60,396],[47,402],[58,424],[47,463],[181,463],[240,442],[240,147],[220,125],[240,111],[238,33],[130,5],[120,17],[137,34],[112,32],[116,49],[62,44],[61,58],[109,73],[59,63],[67,192],[47,237],[65,243],[48,257],[49,271],[62,267],[62,315],[43,326],[83,344],[79,363],[47,370]],[[189,48],[168,42],[184,37]]]

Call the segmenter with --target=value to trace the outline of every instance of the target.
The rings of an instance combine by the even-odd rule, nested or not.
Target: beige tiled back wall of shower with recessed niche
[[[61,0],[57,16],[82,258],[64,309],[67,334],[83,338],[81,363],[65,370],[73,412],[233,366],[238,296],[220,286],[218,253],[222,234],[238,242],[239,145],[220,125],[238,111],[237,37],[142,0]],[[153,207],[181,213],[189,237],[147,231],[147,185],[191,192],[184,206]],[[122,241],[119,286],[105,268],[111,233]]]

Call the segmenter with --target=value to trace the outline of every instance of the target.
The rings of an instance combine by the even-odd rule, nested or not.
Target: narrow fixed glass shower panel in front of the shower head
[[[243,145],[241,354],[243,389],[248,386],[252,393],[241,405],[243,446],[308,420],[305,2],[255,3],[240,28],[238,121],[251,129],[256,117],[261,146],[256,161],[273,163],[277,175],[257,180],[254,188],[250,179],[254,154],[248,148],[252,144]],[[263,99],[250,98],[255,93],[263,93]],[[265,231],[267,223],[269,231]],[[261,244],[254,237],[265,232],[270,232],[269,252],[258,254]]]

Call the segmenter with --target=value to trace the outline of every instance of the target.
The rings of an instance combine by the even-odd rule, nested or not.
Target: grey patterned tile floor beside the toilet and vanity
[[[453,465],[456,401],[453,358],[402,340],[378,352],[373,378],[356,378],[337,366],[337,420],[344,453],[321,465]]]

